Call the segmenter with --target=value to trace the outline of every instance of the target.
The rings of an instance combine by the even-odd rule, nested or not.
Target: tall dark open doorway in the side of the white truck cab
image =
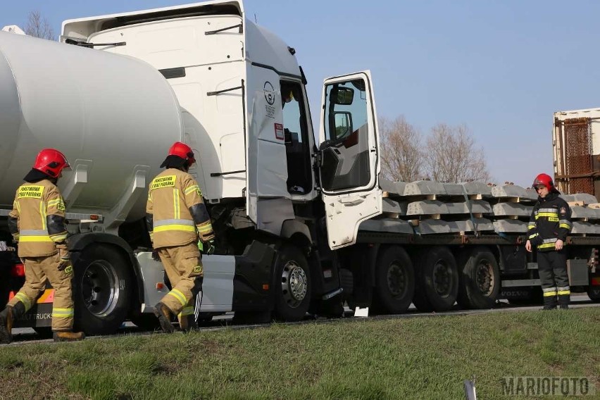
[[[313,188],[308,125],[299,82],[281,81],[283,132],[287,155],[287,189],[305,194]]]

